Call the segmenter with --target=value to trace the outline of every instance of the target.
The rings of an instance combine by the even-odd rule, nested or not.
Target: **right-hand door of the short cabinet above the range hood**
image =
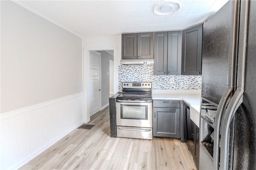
[[[154,33],[137,33],[138,59],[154,58]]]

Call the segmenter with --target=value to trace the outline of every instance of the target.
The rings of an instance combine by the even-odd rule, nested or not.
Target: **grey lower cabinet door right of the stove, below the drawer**
[[[180,109],[154,107],[153,136],[180,138]]]

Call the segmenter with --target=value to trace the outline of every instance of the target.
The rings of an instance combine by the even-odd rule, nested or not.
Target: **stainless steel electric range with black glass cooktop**
[[[117,137],[152,139],[151,82],[123,82],[116,98]]]

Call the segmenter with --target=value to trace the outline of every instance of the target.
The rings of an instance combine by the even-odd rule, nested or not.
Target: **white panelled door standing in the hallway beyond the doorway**
[[[101,109],[100,53],[90,51],[90,116]]]

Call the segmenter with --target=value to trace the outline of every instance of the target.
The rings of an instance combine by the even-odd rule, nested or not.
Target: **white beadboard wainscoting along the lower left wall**
[[[83,123],[83,93],[0,116],[0,169],[17,169]]]

